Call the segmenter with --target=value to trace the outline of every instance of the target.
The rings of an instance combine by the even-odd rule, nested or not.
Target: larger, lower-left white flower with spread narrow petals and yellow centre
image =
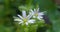
[[[14,18],[14,21],[18,21],[19,24],[26,24],[28,25],[29,23],[32,24],[35,22],[34,19],[30,19],[31,17],[33,16],[33,14],[29,13],[28,16],[26,16],[26,11],[22,11],[22,16],[21,15],[18,15],[18,17],[13,17]]]

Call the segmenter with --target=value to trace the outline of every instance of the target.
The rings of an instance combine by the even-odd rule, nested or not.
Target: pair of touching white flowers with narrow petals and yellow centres
[[[39,8],[38,9],[30,9],[29,14],[26,15],[26,11],[22,10],[22,16],[18,15],[18,17],[13,16],[14,21],[18,21],[19,24],[33,24],[36,22],[36,19],[38,20],[42,20],[44,12],[39,12]]]

